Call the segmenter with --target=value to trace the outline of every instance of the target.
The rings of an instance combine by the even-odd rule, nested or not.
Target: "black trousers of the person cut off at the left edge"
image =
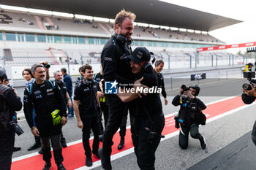
[[[0,131],[0,169],[10,170],[15,133],[12,130]]]

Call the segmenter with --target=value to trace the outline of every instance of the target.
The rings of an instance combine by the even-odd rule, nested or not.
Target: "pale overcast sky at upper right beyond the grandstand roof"
[[[228,45],[244,42],[256,42],[256,1],[255,0],[161,0],[182,7],[189,7],[203,12],[222,15],[227,18],[242,20],[233,26],[210,31],[209,34],[221,39]]]

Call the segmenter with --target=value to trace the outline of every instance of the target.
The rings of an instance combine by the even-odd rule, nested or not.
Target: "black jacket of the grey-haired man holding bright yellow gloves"
[[[24,90],[24,113],[29,127],[34,126],[32,112],[33,108],[36,117],[51,117],[50,113],[59,109],[59,115],[67,116],[67,109],[61,89],[54,81],[45,80],[42,85],[37,85],[36,81]]]

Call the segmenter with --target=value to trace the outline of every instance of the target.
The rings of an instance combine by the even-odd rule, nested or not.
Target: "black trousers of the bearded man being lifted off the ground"
[[[116,95],[105,96],[106,102],[108,104],[108,124],[105,128],[103,135],[103,146],[102,151],[103,155],[108,158],[110,161],[110,155],[112,152],[112,139],[114,134],[121,125],[122,119],[124,117],[124,110],[127,104],[124,104]]]

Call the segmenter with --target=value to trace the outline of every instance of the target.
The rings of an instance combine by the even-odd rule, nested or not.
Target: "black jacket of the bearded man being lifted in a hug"
[[[121,84],[134,83],[130,79],[132,72],[129,66],[129,59],[132,51],[129,45],[121,45],[116,40],[117,34],[111,36],[102,50],[101,63],[105,81],[115,81]]]

